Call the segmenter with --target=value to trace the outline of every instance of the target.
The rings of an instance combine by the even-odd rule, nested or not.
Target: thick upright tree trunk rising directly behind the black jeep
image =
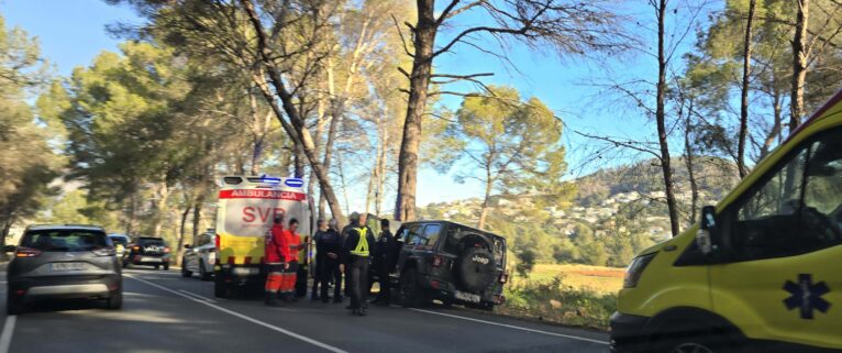
[[[426,109],[436,32],[435,0],[417,0],[417,7],[418,23],[412,33],[416,52],[412,58],[412,73],[409,77],[403,139],[398,155],[398,198],[395,202],[395,219],[403,222],[416,218],[421,121]]]

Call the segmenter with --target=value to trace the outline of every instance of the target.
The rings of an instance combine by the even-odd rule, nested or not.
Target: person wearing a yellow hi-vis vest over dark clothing
[[[368,296],[368,265],[375,250],[374,233],[366,227],[366,214],[359,214],[359,222],[348,232],[344,246],[345,276],[351,277],[351,313],[366,316]]]

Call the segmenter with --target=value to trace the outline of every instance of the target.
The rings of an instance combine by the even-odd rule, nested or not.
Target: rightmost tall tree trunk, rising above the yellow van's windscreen
[[[789,133],[801,123],[804,117],[804,82],[807,78],[807,27],[810,23],[810,0],[796,0],[798,13],[793,38],[793,91],[789,99]]]

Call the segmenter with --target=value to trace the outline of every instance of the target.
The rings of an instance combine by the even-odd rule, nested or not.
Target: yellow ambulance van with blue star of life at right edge
[[[632,261],[611,352],[842,352],[842,91]]]

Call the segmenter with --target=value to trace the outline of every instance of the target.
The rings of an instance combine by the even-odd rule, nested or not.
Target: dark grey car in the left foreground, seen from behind
[[[43,299],[104,299],[109,309],[123,305],[120,263],[102,228],[31,225],[7,251],[14,251],[7,275],[10,315]]]

